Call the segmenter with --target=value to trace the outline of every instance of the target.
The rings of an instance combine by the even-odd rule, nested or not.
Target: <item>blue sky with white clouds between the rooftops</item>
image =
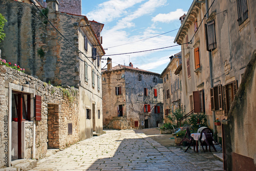
[[[82,15],[104,24],[101,32],[106,55],[157,49],[174,44],[181,24],[179,17],[187,13],[193,0],[82,0]],[[175,30],[173,32],[169,32]],[[156,36],[162,33],[166,33]],[[142,40],[148,37],[150,39]],[[138,42],[134,42],[138,41]],[[134,42],[130,44],[131,42]],[[127,45],[123,45],[127,44]],[[120,46],[123,45],[123,46]],[[116,46],[116,47],[114,47]],[[110,56],[112,66],[129,65],[160,73],[169,56],[180,52],[180,46],[151,52]],[[108,56],[104,56],[106,58]],[[102,66],[104,66],[106,61]]]

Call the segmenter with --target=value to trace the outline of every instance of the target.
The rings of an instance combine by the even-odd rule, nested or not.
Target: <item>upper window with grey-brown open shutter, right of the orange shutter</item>
[[[206,50],[212,51],[216,49],[216,33],[215,33],[215,22],[211,20],[205,24],[205,37],[206,37]]]

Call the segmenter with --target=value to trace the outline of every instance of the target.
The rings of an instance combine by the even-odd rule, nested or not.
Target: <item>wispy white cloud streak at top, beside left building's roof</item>
[[[115,18],[126,14],[127,8],[133,7],[135,4],[141,3],[145,0],[110,0],[99,4],[98,8],[87,13],[89,20],[96,20],[100,23],[111,22]]]

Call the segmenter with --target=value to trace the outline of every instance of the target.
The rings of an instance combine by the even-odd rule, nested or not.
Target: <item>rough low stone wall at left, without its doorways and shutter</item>
[[[26,81],[27,84],[26,84]],[[11,86],[11,87],[10,87]],[[16,87],[21,87],[22,91],[25,93],[27,90],[33,90],[32,97],[34,95],[41,96],[41,120],[35,121],[34,111],[31,112],[31,121],[33,121],[33,126],[35,126],[35,159],[39,159],[45,156],[48,148],[48,113],[51,113],[52,105],[57,105],[58,122],[50,123],[57,127],[57,130],[52,132],[58,136],[55,137],[56,141],[59,141],[59,148],[64,148],[67,145],[75,143],[79,140],[79,118],[78,118],[78,90],[75,88],[63,89],[60,87],[53,87],[51,84],[42,82],[32,76],[25,73],[19,72],[17,70],[8,68],[6,66],[0,66],[0,166],[4,166],[4,157],[8,154],[8,148],[6,148],[5,142],[7,142],[8,147],[8,136],[5,133],[5,126],[8,127],[8,122],[10,119],[8,117],[9,110],[9,90],[15,90]],[[31,93],[31,92],[30,92]],[[34,105],[31,103],[31,105]],[[52,113],[51,113],[52,114]],[[55,113],[56,114],[56,113]],[[5,121],[7,120],[7,121]],[[7,123],[7,124],[5,124]],[[11,122],[10,122],[11,123]],[[69,123],[72,123],[71,134],[69,133]],[[50,129],[50,127],[49,127]],[[31,154],[31,141],[32,141],[32,125],[31,123],[26,124],[26,154]],[[50,131],[50,130],[49,130]]]

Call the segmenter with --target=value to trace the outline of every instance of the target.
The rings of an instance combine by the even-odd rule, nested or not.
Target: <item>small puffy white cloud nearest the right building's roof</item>
[[[183,11],[183,9],[177,9],[176,11],[172,11],[167,14],[158,14],[152,18],[152,21],[169,23],[173,20],[179,19],[184,13],[186,14],[187,11]]]

